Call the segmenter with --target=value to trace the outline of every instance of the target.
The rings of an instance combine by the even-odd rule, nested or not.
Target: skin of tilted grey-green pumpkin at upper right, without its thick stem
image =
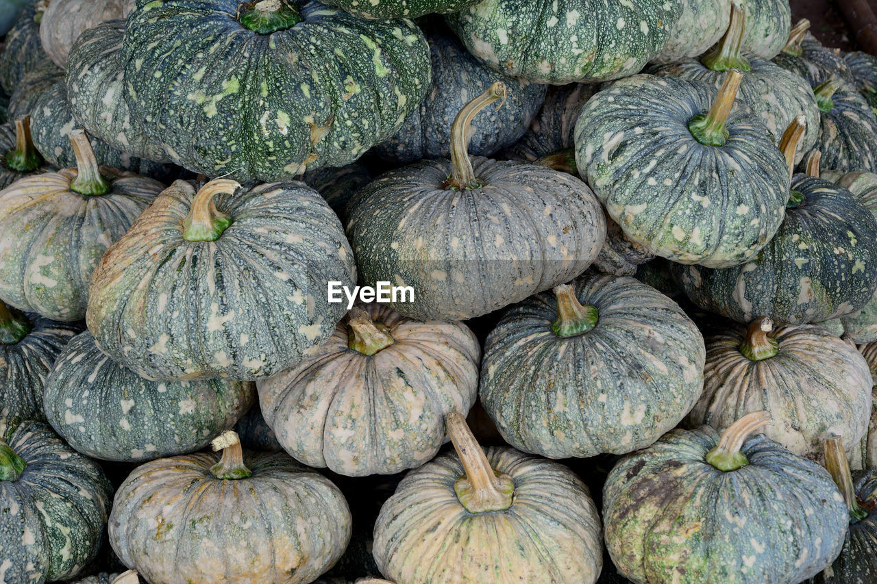
[[[731,112],[724,146],[695,139],[688,121],[716,93],[674,77],[617,82],[581,110],[575,160],[628,239],[668,260],[726,267],[752,258],[779,228],[788,167],[748,108]]]

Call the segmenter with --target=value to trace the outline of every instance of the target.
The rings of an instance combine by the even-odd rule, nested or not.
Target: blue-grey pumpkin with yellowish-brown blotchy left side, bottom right
[[[721,437],[675,430],[618,462],[603,488],[618,572],[638,584],[795,584],[831,564],[844,498],[822,466],[748,437],[767,421],[753,412]]]

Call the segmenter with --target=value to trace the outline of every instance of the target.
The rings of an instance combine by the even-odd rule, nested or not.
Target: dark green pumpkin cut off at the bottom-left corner
[[[61,580],[97,554],[112,487],[39,422],[0,422],[0,558],[6,582]]]

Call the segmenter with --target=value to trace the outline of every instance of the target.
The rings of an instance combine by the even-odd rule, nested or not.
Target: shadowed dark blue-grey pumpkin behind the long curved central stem
[[[424,158],[447,158],[451,153],[453,118],[469,96],[482,93],[499,77],[453,35],[436,33],[426,40],[432,59],[430,91],[405,118],[399,132],[374,147],[383,160],[405,164]],[[544,85],[513,77],[501,81],[507,88],[504,109],[478,116],[469,126],[469,152],[478,156],[490,156],[520,138],[545,98]]]

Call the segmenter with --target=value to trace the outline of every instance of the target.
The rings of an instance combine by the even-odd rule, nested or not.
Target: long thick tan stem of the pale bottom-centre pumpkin
[[[497,473],[488,462],[466,418],[453,411],[445,418],[448,438],[463,465],[463,476],[453,483],[463,507],[470,513],[486,513],[509,509],[515,494],[515,483],[508,474]]]

